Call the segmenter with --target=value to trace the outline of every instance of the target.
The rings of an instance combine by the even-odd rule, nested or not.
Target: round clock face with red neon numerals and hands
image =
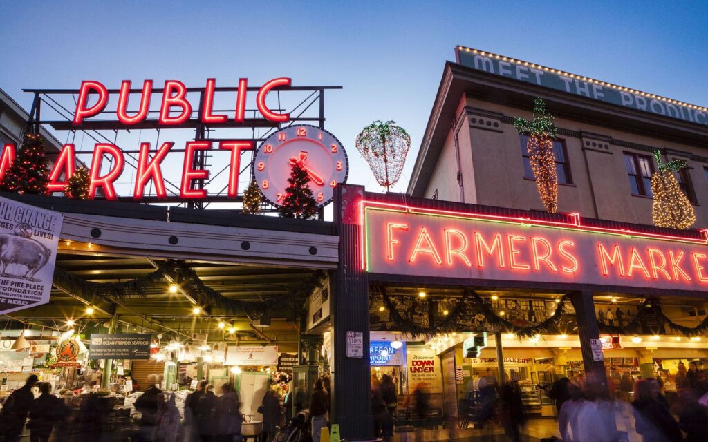
[[[296,163],[307,170],[319,207],[332,200],[335,187],[346,182],[349,173],[347,154],[336,136],[308,125],[281,129],[263,141],[253,159],[253,177],[272,204],[282,204]]]

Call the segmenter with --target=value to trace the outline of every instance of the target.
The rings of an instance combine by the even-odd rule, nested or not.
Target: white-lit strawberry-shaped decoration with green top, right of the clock
[[[377,120],[357,135],[356,149],[369,163],[376,181],[388,192],[401,178],[411,149],[411,136],[394,121]]]

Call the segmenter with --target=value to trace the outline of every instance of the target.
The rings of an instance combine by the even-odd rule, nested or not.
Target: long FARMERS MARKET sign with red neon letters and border
[[[363,201],[368,272],[708,292],[708,243],[568,221]]]

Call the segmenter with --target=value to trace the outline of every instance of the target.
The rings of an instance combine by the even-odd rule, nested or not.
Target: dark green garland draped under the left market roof
[[[200,307],[223,308],[232,314],[262,315],[273,313],[302,312],[304,301],[312,292],[315,284],[323,277],[317,273],[303,284],[289,290],[287,296],[265,299],[263,301],[241,301],[224,296],[219,291],[206,286],[197,273],[184,261],[169,260],[157,262],[158,269],[143,277],[122,282],[86,281],[64,269],[55,267],[53,284],[62,290],[75,293],[89,302],[99,300],[108,302],[123,301],[127,298],[145,298],[151,289],[168,284],[169,279],[178,281],[183,290],[195,298]],[[169,278],[168,278],[169,277]]]

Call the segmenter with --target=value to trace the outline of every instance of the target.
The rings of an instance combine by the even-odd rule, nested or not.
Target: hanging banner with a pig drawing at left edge
[[[49,302],[62,214],[0,197],[0,314]]]

